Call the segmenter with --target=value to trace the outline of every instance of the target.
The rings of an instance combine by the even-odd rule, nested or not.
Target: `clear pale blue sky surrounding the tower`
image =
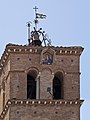
[[[28,21],[34,19],[33,7],[47,15],[39,27],[48,33],[54,46],[82,46],[81,120],[90,120],[90,0],[0,0],[0,56],[6,44],[28,44]]]

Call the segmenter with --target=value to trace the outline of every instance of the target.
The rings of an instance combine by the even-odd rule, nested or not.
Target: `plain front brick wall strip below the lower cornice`
[[[12,106],[10,120],[79,120],[77,105]]]

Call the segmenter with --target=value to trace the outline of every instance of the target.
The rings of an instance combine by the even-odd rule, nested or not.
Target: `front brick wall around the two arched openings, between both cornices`
[[[11,54],[11,98],[26,99],[27,73],[33,68],[40,72],[40,98],[51,99],[47,87],[53,87],[54,74],[63,73],[65,99],[79,99],[79,56],[56,55],[52,65],[40,64],[40,54]],[[16,72],[15,72],[16,71]],[[23,89],[22,89],[23,88]],[[51,90],[52,92],[52,90]]]

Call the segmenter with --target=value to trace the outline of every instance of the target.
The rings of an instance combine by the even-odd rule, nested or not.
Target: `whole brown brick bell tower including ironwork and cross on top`
[[[34,9],[28,45],[6,45],[0,60],[0,120],[80,120],[83,48],[52,46]]]

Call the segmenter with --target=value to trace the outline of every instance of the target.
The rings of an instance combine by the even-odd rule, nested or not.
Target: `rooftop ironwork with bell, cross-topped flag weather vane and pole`
[[[35,19],[34,24],[35,27],[31,31],[31,24],[32,22],[27,22],[27,28],[28,28],[28,44],[34,45],[34,46],[51,46],[51,40],[49,39],[48,35],[45,33],[45,31],[42,31],[42,28],[38,29],[38,19],[45,19],[46,15],[37,13],[37,7],[35,6]]]

